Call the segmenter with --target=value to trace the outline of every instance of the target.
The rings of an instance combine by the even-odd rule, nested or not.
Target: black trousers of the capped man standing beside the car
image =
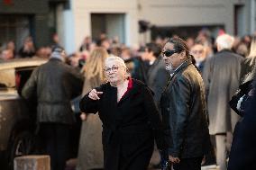
[[[64,170],[69,158],[70,125],[41,123],[39,138],[43,154],[50,155],[51,170]]]

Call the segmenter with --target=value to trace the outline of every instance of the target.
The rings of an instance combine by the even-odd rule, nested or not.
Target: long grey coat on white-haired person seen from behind
[[[207,112],[211,135],[233,131],[239,116],[229,106],[239,87],[243,58],[224,49],[206,60],[203,79],[206,85]]]

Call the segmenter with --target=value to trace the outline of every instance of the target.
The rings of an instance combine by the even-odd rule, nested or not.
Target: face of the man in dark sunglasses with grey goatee
[[[174,49],[174,44],[168,42],[162,49],[162,59],[165,62],[165,68],[173,71],[183,62],[182,59],[184,58],[182,57],[182,53],[178,53]]]

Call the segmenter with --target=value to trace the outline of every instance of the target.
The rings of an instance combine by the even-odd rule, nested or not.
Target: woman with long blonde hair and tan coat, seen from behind
[[[105,49],[96,48],[87,58],[83,67],[85,76],[83,95],[104,83],[104,62],[107,57]],[[81,114],[83,123],[78,149],[78,170],[100,169],[104,166],[101,142],[102,123],[98,114],[87,113]]]

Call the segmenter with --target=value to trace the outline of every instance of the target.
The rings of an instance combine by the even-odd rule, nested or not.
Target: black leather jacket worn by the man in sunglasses
[[[202,157],[210,146],[205,88],[191,60],[170,77],[160,105],[169,155]]]

